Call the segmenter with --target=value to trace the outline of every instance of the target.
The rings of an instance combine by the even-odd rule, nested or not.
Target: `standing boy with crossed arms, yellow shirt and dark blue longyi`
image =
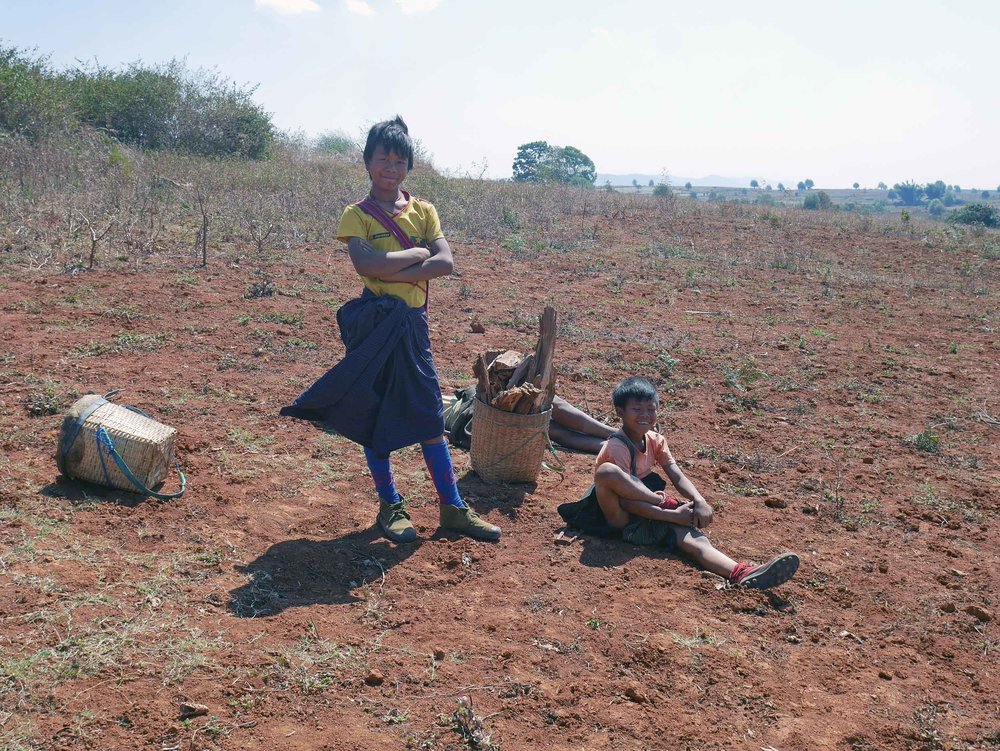
[[[413,169],[401,117],[372,126],[364,161],[371,190],[344,210],[337,230],[365,287],[337,311],[347,352],[281,414],[324,422],[364,446],[379,496],[377,524],[390,540],[416,539],[389,463],[390,452],[414,443],[438,493],[441,527],[497,540],[500,528],[462,500],[444,440],[427,299],[430,280],[450,274],[453,260],[434,206],[401,187]]]

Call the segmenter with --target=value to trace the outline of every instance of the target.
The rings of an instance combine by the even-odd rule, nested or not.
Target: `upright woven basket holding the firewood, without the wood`
[[[476,399],[472,408],[472,469],[484,482],[534,482],[548,446],[551,409],[505,412]]]

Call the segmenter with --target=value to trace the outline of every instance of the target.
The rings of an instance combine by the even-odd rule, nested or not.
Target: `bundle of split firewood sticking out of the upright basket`
[[[534,354],[514,350],[484,352],[472,366],[476,395],[505,412],[527,415],[552,406],[556,377],[552,357],[556,349],[556,311],[546,308],[538,326]]]

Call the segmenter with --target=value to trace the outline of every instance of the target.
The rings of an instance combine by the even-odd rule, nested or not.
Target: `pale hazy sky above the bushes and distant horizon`
[[[602,173],[995,190],[998,40],[995,0],[0,0],[0,44],[56,67],[185,58],[281,128],[398,112],[492,177],[546,140]]]

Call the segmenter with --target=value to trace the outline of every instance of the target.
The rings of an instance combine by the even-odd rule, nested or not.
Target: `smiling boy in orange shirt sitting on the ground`
[[[607,525],[637,544],[677,550],[734,586],[769,589],[788,581],[799,567],[795,553],[782,553],[757,566],[737,563],[715,548],[699,530],[712,522],[712,507],[677,466],[666,439],[656,432],[659,402],[645,378],[628,378],[612,394],[621,432],[612,435],[597,455],[594,487]],[[652,471],[659,464],[684,498],[665,494],[666,483]]]

